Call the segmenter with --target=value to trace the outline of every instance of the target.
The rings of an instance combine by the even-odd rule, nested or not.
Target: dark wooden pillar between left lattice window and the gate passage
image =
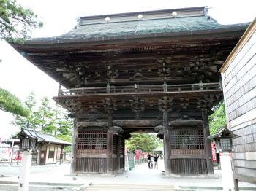
[[[112,113],[108,113],[107,174],[113,174],[113,124]]]

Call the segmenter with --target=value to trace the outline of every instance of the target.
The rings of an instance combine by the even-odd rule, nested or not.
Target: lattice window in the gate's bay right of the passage
[[[172,155],[203,155],[203,130],[172,130],[170,148]]]

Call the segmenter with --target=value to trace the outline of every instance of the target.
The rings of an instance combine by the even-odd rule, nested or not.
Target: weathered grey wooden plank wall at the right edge
[[[235,179],[256,184],[256,33],[222,73],[227,126],[233,140]]]

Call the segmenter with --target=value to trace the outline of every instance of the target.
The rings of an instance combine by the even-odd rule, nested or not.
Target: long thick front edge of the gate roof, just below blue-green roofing
[[[98,44],[126,44],[129,42],[165,42],[171,39],[175,40],[189,40],[189,39],[211,39],[218,38],[219,36],[238,36],[244,33],[249,23],[244,23],[239,26],[232,26],[230,28],[218,28],[211,30],[197,30],[197,31],[180,31],[171,33],[154,33],[154,34],[140,34],[140,35],[129,35],[129,36],[108,36],[99,38],[72,38],[72,39],[31,39],[25,42],[25,44],[11,44],[12,47],[21,49],[30,48],[59,48],[59,47],[79,47],[79,46],[91,46]]]

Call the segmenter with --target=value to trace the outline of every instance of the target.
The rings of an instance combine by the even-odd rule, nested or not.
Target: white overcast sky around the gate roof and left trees
[[[44,27],[34,31],[32,36],[56,36],[75,26],[79,16],[105,15],[120,12],[140,12],[156,9],[208,6],[211,17],[221,24],[251,22],[255,17],[253,0],[244,1],[171,1],[171,0],[20,0],[24,7],[30,7],[42,20]],[[24,101],[31,91],[38,99],[57,95],[58,83],[26,61],[6,42],[0,42],[0,87],[10,90]],[[10,125],[12,116],[0,111],[0,138],[6,139],[17,130]]]

